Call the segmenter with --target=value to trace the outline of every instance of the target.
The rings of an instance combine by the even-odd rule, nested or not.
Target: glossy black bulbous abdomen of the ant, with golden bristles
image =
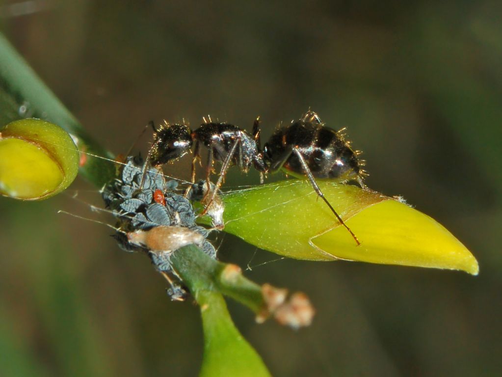
[[[271,170],[276,166],[292,176],[304,177],[298,155],[288,154],[292,148],[302,155],[316,179],[356,180],[363,185],[364,162],[357,157],[360,152],[353,151],[342,132],[326,127],[313,111],[277,129],[264,146],[264,158]]]

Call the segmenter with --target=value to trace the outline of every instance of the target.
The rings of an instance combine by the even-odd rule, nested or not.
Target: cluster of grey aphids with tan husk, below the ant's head
[[[216,250],[206,239],[210,230],[195,223],[190,201],[173,192],[176,182],[166,182],[156,168],[143,175],[142,168],[140,158],[128,157],[118,177],[103,188],[102,197],[117,218],[115,238],[118,245],[128,252],[150,257],[171,285],[168,295],[173,300],[181,300],[186,290],[173,282],[176,272],[170,262],[172,253],[180,247],[196,244],[215,259]]]

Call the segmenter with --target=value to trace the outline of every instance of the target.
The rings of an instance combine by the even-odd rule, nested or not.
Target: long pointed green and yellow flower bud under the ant
[[[343,259],[477,275],[478,264],[469,250],[431,217],[374,191],[329,181],[318,184],[359,239],[359,246],[306,180],[222,195],[225,231],[289,258]]]

